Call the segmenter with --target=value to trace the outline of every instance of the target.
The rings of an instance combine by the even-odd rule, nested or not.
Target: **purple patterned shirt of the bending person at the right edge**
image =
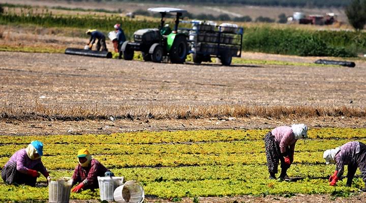
[[[356,160],[356,154],[360,151],[359,142],[348,142],[341,147],[341,151],[335,154],[335,170],[338,171],[337,176],[340,178],[344,172],[344,166],[348,164],[354,164]]]

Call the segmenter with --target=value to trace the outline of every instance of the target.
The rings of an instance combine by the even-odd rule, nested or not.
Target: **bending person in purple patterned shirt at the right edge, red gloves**
[[[366,192],[366,145],[361,142],[348,142],[341,147],[328,149],[324,152],[325,163],[335,162],[335,171],[329,177],[329,185],[334,186],[342,177],[344,166],[348,165],[346,186],[351,187],[352,179],[359,168],[365,187],[362,191]]]

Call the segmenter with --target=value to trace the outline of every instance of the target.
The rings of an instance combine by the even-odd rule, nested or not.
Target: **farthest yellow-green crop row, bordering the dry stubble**
[[[114,134],[84,134],[80,136],[0,136],[0,144],[29,144],[33,140],[41,140],[47,144],[177,144],[196,142],[229,142],[262,140],[270,129],[250,130],[192,130],[192,131],[160,131],[160,132],[125,132]],[[310,139],[363,139],[365,128],[311,128]]]

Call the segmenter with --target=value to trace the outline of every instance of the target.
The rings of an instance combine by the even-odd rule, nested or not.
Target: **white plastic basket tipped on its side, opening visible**
[[[145,198],[145,193],[138,182],[127,181],[114,190],[113,196],[117,203],[140,203]]]

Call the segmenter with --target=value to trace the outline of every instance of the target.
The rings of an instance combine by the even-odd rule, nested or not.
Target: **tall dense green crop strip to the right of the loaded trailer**
[[[245,32],[243,50],[275,54],[355,57],[366,44],[366,33],[355,31],[253,27]]]

